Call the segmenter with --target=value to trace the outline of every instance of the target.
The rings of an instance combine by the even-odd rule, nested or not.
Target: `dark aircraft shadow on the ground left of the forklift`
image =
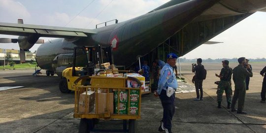
[[[70,94],[63,94],[59,90],[60,77],[58,76],[12,76],[4,77],[4,79],[9,80],[7,83],[0,83],[0,86],[24,86],[23,88],[17,88],[16,90],[27,89],[42,89],[47,91],[46,93],[41,93],[38,95],[19,98],[21,100],[35,100],[37,102],[45,101],[58,101],[60,104],[73,104],[74,103],[74,92]],[[10,83],[11,82],[11,83]],[[15,90],[7,90],[15,91]]]

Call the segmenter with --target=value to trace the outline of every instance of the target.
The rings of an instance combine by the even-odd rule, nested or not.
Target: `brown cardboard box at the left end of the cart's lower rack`
[[[86,101],[87,100],[87,101]],[[86,104],[87,102],[87,104]],[[95,92],[88,91],[87,97],[86,92],[80,94],[78,101],[78,112],[79,113],[89,113],[94,109],[95,104]],[[85,108],[87,106],[87,112],[85,112]]]

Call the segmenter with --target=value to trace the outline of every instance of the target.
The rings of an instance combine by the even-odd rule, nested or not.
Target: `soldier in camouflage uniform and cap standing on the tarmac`
[[[231,108],[231,96],[232,96],[232,73],[233,70],[231,67],[229,67],[229,61],[224,60],[222,61],[223,68],[221,69],[220,75],[215,73],[215,76],[220,78],[220,82],[217,88],[217,102],[218,102],[218,108],[221,108],[221,102],[223,100],[223,93],[225,91],[226,94],[226,100],[227,100],[227,108]]]

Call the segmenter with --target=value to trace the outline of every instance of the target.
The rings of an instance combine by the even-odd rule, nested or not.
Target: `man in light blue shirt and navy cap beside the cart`
[[[167,55],[167,63],[161,70],[161,76],[158,83],[157,93],[160,96],[164,108],[164,115],[159,127],[159,131],[165,133],[172,133],[171,120],[175,111],[174,107],[174,91],[177,89],[177,81],[173,72],[173,66],[176,64],[177,55],[170,53]]]

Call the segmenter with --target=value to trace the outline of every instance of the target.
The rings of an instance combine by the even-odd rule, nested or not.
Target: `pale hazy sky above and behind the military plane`
[[[0,22],[95,29],[96,24],[118,19],[123,22],[143,15],[169,0],[0,0]],[[114,24],[114,22],[108,23]],[[108,25],[107,24],[107,25]],[[0,38],[17,38],[2,35]],[[45,41],[55,38],[43,38]],[[266,58],[266,12],[256,12],[182,58]],[[40,44],[35,44],[34,52]],[[16,43],[0,48],[19,49]]]

